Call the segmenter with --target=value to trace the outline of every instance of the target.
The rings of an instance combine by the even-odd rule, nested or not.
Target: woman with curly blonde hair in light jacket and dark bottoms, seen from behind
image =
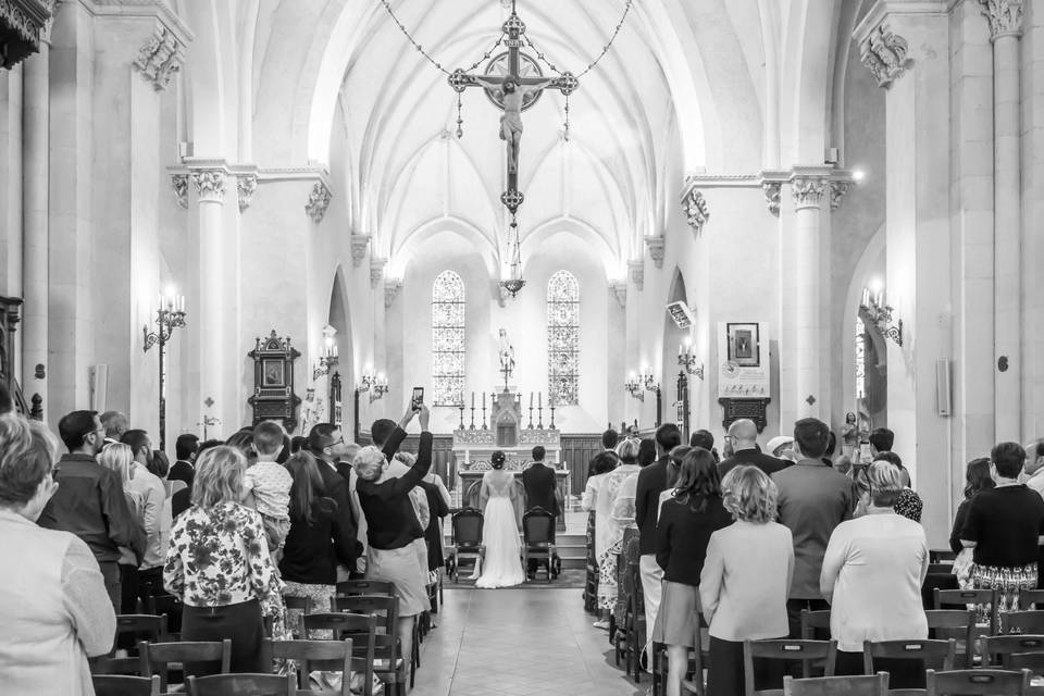
[[[743,642],[785,637],[794,575],[791,531],[775,521],[778,490],[760,469],[741,464],[722,481],[735,523],[710,535],[699,574],[699,600],[710,633],[708,696],[746,693]],[[776,660],[755,662],[751,687],[782,682]]]

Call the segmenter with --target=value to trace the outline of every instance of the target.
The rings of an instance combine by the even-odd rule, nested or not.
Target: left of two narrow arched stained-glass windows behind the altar
[[[452,271],[432,286],[432,382],[435,406],[464,402],[464,282]]]

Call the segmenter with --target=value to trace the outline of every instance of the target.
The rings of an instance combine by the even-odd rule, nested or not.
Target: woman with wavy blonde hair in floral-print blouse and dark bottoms
[[[261,515],[240,505],[246,468],[243,453],[227,446],[196,461],[192,507],[171,530],[163,584],[185,602],[183,641],[231,638],[233,672],[268,672],[263,617],[282,610],[283,583]]]

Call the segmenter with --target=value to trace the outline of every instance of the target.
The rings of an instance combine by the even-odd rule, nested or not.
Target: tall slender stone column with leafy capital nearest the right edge
[[[1019,37],[1022,0],[980,0],[993,42],[994,350],[997,440],[1022,439],[1021,158]],[[1029,434],[1028,434],[1029,435]]]

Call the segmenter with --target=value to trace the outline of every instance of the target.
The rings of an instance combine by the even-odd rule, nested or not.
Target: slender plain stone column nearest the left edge
[[[25,61],[22,120],[22,389],[26,401],[47,395],[47,378],[36,377],[36,365],[47,364],[48,337],[48,123],[50,121],[50,45]],[[44,420],[47,420],[44,399]]]

